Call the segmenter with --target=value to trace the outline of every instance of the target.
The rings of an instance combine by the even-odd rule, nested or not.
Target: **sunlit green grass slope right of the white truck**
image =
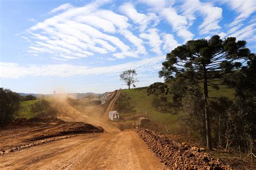
[[[151,121],[156,122],[157,124],[163,126],[162,132],[165,132],[166,128],[169,131],[172,131],[178,127],[178,117],[180,115],[181,109],[179,108],[169,108],[165,112],[158,111],[157,108],[153,107],[152,102],[156,96],[150,95],[147,96],[147,88],[133,88],[133,89],[123,89],[121,94],[125,96],[125,98],[129,98],[129,106],[136,110],[136,112],[127,112],[120,111],[120,116],[129,117],[131,115],[144,116],[149,118]],[[234,89],[219,89],[215,90],[209,87],[209,96],[210,97],[220,97],[226,96],[228,98],[234,97]],[[166,95],[168,102],[173,102],[172,95]],[[143,112],[143,109],[146,110],[147,115]],[[126,122],[131,122],[131,120],[126,119]]]

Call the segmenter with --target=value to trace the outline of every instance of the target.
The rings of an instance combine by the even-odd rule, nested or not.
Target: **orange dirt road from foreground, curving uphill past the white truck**
[[[107,107],[98,113],[99,119],[91,117],[96,108],[79,112],[70,105],[65,107],[73,114],[59,116],[103,126],[105,133],[85,134],[2,155],[0,168],[166,169],[136,132],[119,131],[107,120],[119,94],[119,90],[114,92]]]

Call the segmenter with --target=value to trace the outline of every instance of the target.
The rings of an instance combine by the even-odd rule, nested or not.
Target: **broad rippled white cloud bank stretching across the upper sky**
[[[248,2],[246,1],[245,6],[250,4]],[[101,54],[107,54],[102,55],[106,56],[105,60],[145,58],[149,51],[163,54],[180,45],[177,41],[180,39],[176,40],[174,36],[184,40],[183,43],[193,39],[194,34],[190,27],[198,16],[203,19],[198,26],[199,34],[204,34],[203,37],[209,38],[218,33],[221,38],[234,34],[238,38],[252,40],[253,36],[249,35],[255,31],[254,26],[246,30],[239,24],[224,32],[219,25],[222,9],[213,3],[200,0],[184,0],[180,3],[140,0],[138,3],[125,2],[120,6],[115,4],[111,6],[116,8],[113,10],[103,6],[104,3],[106,1],[93,1],[79,7],[63,4],[53,9],[52,15],[48,15],[49,18],[30,27],[26,34],[22,35],[23,39],[28,38],[26,40],[30,42],[25,51],[38,55],[49,53],[45,56],[63,60]],[[250,15],[241,16],[241,9],[244,7],[240,8],[233,2],[228,3],[233,5],[232,9],[240,11],[238,18]],[[138,8],[138,4],[147,4],[146,10]],[[158,22],[161,22],[161,25],[157,29]],[[162,26],[163,31],[159,30]],[[247,32],[241,32],[242,30]]]

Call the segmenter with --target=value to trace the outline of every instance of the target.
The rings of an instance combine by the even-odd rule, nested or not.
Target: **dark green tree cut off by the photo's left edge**
[[[21,96],[9,89],[0,88],[0,126],[12,121],[15,111],[19,109]]]

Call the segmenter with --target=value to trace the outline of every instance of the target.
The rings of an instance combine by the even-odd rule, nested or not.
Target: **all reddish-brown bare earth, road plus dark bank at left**
[[[108,120],[108,111],[113,110],[119,94],[116,90],[104,106],[90,106],[83,111],[64,100],[53,101],[60,110],[57,117],[73,122],[1,129],[0,148],[6,152],[0,155],[0,169],[166,169],[136,132],[121,132],[117,124]],[[88,129],[77,122],[102,126],[105,132],[60,135],[71,129]]]

